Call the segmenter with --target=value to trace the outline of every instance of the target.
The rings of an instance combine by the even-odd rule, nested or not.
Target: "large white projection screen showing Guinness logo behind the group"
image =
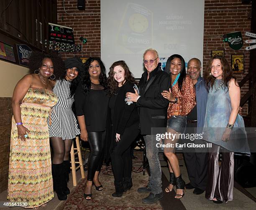
[[[101,58],[107,73],[123,60],[135,78],[143,73],[143,52],[154,48],[165,66],[172,54],[202,61],[204,0],[101,0]]]

